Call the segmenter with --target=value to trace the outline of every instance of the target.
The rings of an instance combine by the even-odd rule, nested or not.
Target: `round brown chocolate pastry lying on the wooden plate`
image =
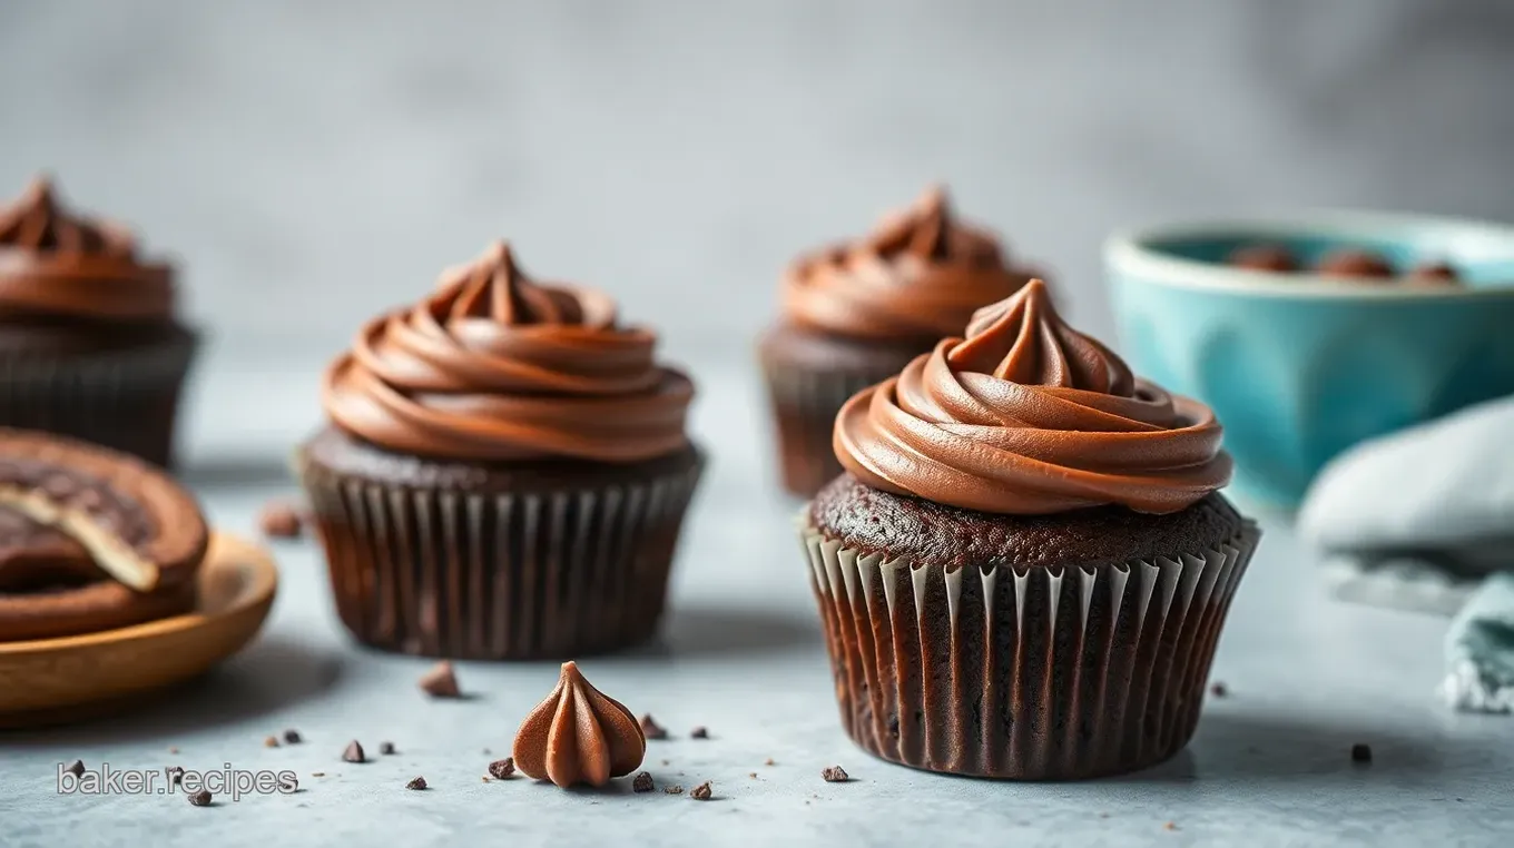
[[[162,471],[0,429],[0,642],[188,612],[207,545],[194,497]]]

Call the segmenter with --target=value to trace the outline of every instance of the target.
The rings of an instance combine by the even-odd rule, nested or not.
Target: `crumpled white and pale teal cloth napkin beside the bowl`
[[[1456,709],[1514,712],[1514,397],[1343,453],[1297,527],[1340,594],[1455,612],[1441,692]]]

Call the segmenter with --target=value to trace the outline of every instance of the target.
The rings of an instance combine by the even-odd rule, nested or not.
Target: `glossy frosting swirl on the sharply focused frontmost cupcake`
[[[877,489],[1013,515],[1169,513],[1231,475],[1214,413],[1132,377],[1061,321],[1040,280],[848,400],[834,447]]]

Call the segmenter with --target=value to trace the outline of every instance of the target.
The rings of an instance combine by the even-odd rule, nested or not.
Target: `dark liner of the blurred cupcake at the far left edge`
[[[92,354],[0,354],[0,426],[173,462],[179,395],[198,338]]]

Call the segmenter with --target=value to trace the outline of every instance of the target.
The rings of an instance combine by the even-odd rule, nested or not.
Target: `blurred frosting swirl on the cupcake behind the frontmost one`
[[[795,262],[783,306],[790,321],[827,333],[939,339],[1028,279],[1005,263],[993,235],[958,221],[946,192],[931,188],[872,235]]]

